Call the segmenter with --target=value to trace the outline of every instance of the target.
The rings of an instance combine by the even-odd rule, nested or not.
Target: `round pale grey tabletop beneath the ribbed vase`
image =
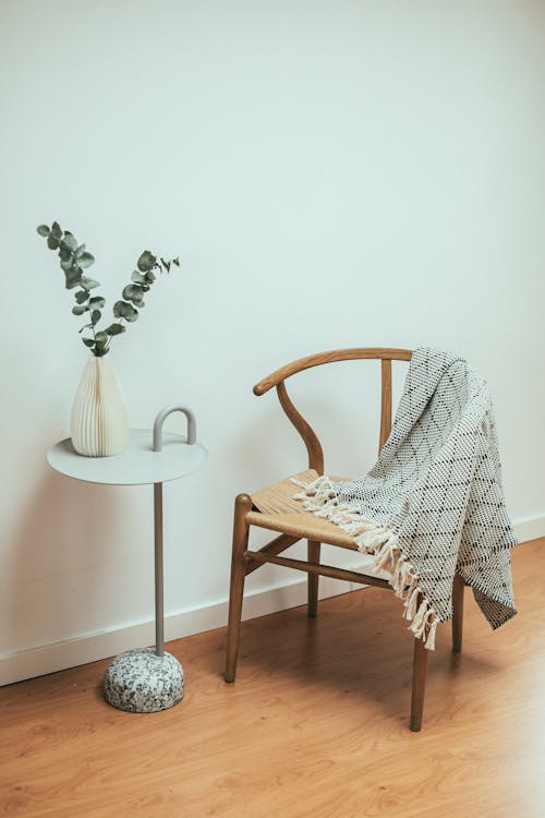
[[[88,483],[142,485],[164,483],[186,477],[207,460],[208,452],[199,443],[187,445],[185,437],[164,432],[162,450],[154,452],[150,429],[132,429],[126,448],[113,457],[83,457],[70,437],[51,446],[47,461],[66,477]]]

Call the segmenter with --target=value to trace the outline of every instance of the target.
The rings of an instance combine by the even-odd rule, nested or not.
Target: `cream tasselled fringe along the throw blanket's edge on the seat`
[[[301,501],[316,517],[327,518],[350,534],[361,553],[375,557],[376,570],[391,574],[388,581],[396,597],[403,600],[404,617],[411,623],[409,630],[416,639],[422,639],[428,650],[434,650],[439,617],[420,588],[414,566],[401,553],[392,529],[365,519],[352,506],[340,503],[331,480],[325,474],[312,483],[296,478],[291,478],[291,482],[302,489],[294,500]]]

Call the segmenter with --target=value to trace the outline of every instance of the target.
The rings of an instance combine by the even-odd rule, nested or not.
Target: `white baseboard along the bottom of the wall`
[[[545,514],[519,519],[516,521],[514,529],[521,542],[545,537]],[[358,570],[360,564],[354,561],[347,567]],[[356,588],[362,588],[362,586],[322,577],[319,598],[336,597]],[[253,619],[276,611],[295,608],[305,602],[306,577],[303,576],[280,587],[247,593],[244,597],[242,618]],[[166,640],[180,639],[183,636],[221,627],[227,623],[227,609],[228,602],[225,599],[201,608],[184,609],[169,614],[165,618],[165,638]],[[0,657],[0,686],[95,662],[130,648],[153,645],[154,638],[154,623],[146,621],[98,634],[84,634],[74,639]]]

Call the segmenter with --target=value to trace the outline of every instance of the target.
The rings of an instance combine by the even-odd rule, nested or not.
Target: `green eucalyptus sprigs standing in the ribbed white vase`
[[[46,239],[50,250],[58,251],[59,263],[64,273],[64,286],[68,290],[75,289],[76,303],[72,308],[72,313],[86,317],[80,333],[90,332],[90,335],[82,336],[82,341],[97,358],[109,352],[111,339],[116,335],[126,332],[126,326],[122,322],[133,324],[138,320],[138,310],[145,305],[144,294],[156,280],[155,272],[170,273],[172,265],[180,266],[178,257],[167,261],[161,256],[157,260],[149,250],[144,250],[136,262],[137,269],[131,275],[131,282],[123,287],[122,300],[113,304],[113,317],[118,321],[106,329],[99,329],[97,325],[102,317],[106,299],[101,296],[92,297],[90,291],[100,287],[100,282],[83,274],[84,269],[95,263],[95,256],[85,249],[85,244],[77,244],[74,234],[69,230],[62,230],[57,221],[53,221],[51,227],[40,225],[37,231]]]

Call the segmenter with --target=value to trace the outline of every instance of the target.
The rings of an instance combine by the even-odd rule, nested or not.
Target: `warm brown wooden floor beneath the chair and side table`
[[[0,815],[85,818],[542,818],[545,540],[513,552],[519,616],[496,633],[467,591],[464,653],[439,629],[422,733],[408,730],[411,638],[364,589],[171,642],[186,696],[114,710],[106,662],[0,690]],[[443,631],[443,633],[441,633]]]

